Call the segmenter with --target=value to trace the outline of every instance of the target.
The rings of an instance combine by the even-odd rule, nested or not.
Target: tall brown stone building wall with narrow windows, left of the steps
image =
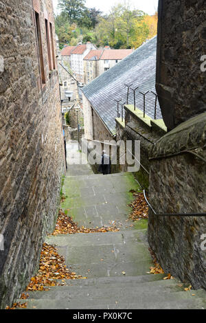
[[[0,1],[0,303],[21,295],[52,232],[65,172],[51,0]]]

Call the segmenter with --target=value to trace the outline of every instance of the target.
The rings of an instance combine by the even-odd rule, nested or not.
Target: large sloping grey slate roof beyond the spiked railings
[[[93,109],[100,115],[111,133],[116,133],[117,103],[114,100],[122,99],[122,103],[126,102],[127,87],[125,84],[133,84],[133,89],[139,87],[135,96],[136,107],[142,111],[144,109],[144,98],[139,91],[156,93],[156,53],[157,36],[141,45],[135,52],[105,71],[98,78],[95,78],[89,85],[83,87],[84,96],[87,97]],[[130,91],[128,104],[133,104],[133,102],[133,91]],[[152,93],[146,95],[146,114],[150,118],[154,118],[155,95]],[[159,102],[157,102],[157,119],[162,119]]]

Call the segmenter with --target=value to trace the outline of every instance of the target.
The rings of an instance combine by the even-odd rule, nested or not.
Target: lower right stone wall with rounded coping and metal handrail
[[[170,131],[153,146],[149,197],[158,214],[205,213],[205,124],[206,113],[202,113]],[[190,282],[194,289],[206,289],[203,234],[206,234],[205,216],[158,216],[150,210],[150,247],[165,272]]]

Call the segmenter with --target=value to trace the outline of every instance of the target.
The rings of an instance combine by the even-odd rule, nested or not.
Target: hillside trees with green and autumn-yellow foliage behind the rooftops
[[[87,8],[85,0],[59,0],[56,34],[60,48],[91,41],[97,47],[137,48],[157,34],[157,12],[149,16],[132,8],[130,3],[117,4],[108,14]]]

